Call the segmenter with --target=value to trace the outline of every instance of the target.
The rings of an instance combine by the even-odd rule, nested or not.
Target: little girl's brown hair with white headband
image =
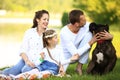
[[[47,29],[43,33],[43,46],[46,47],[49,45],[48,40],[52,39],[55,35],[57,35],[54,29]]]

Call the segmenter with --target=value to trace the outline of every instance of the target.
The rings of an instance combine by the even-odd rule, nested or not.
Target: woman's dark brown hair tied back
[[[42,15],[45,14],[45,13],[49,15],[49,12],[46,11],[46,10],[40,10],[40,11],[35,12],[32,28],[35,28],[35,27],[38,26],[38,23],[37,23],[36,19],[40,19],[42,17]]]

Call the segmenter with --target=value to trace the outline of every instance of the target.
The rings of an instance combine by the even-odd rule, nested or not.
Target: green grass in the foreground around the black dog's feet
[[[76,68],[75,64],[70,64],[67,70],[67,74],[70,74],[71,77],[54,77],[51,76],[47,79],[40,79],[40,80],[119,80],[120,76],[120,59],[117,60],[115,68],[112,72],[106,75],[88,75],[86,73],[87,64],[83,65],[83,75],[79,76],[74,70]],[[36,79],[37,80],[37,79]]]

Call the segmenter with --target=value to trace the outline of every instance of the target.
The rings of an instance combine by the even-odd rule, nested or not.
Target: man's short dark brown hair
[[[84,13],[81,10],[72,10],[69,13],[69,22],[71,24],[75,24],[75,22],[80,22],[81,15],[84,15]]]

